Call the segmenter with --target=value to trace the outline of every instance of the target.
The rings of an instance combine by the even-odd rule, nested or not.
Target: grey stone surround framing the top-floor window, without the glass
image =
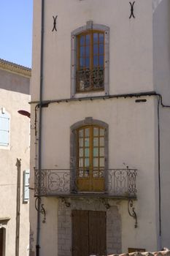
[[[76,37],[78,34],[81,34],[87,30],[100,30],[104,31],[104,91],[100,92],[89,92],[87,93],[76,93],[76,62],[77,62],[77,50],[76,50]],[[74,98],[78,95],[81,97],[89,96],[104,96],[109,94],[109,27],[101,24],[94,24],[93,20],[88,20],[85,26],[81,26],[78,29],[72,31],[71,34],[71,98]]]

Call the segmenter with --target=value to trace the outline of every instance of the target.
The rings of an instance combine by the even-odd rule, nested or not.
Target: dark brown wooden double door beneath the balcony
[[[105,211],[72,211],[72,255],[106,255]]]

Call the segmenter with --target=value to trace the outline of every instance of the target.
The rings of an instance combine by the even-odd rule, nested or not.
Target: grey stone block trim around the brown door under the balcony
[[[107,254],[121,253],[121,217],[117,206],[109,209],[99,199],[70,199],[70,207],[66,207],[62,199],[58,208],[58,256],[72,256],[72,212],[74,210],[106,212]]]

